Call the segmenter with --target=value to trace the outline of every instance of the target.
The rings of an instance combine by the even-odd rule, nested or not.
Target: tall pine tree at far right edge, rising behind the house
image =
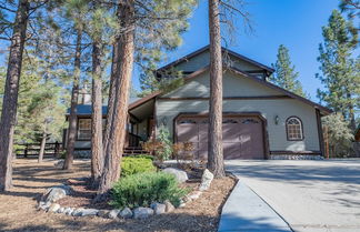
[[[341,112],[356,129],[356,110],[359,109],[359,57],[354,58],[358,33],[352,30],[338,10],[333,10],[329,24],[322,28],[323,43],[319,46],[320,70],[317,74],[326,90],[318,89],[318,97],[336,112]]]

